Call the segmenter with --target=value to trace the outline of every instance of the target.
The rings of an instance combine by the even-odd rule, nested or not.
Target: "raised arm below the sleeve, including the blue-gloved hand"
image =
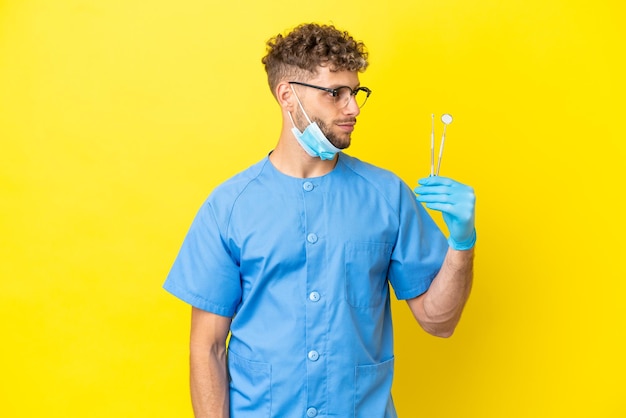
[[[419,181],[417,200],[441,211],[450,232],[450,248],[430,288],[408,300],[417,322],[432,335],[449,337],[461,318],[473,279],[476,196],[452,179],[431,176]]]

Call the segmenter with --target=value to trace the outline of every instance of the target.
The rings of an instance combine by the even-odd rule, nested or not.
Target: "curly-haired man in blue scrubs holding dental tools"
[[[474,192],[420,180],[446,241],[398,177],[341,152],[371,93],[361,42],[305,24],[267,45],[278,143],[213,191],[164,285],[193,306],[194,413],[395,417],[389,283],[427,332],[452,334],[472,282]]]

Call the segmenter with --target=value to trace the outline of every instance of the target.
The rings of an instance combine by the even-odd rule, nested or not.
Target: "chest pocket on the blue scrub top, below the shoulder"
[[[391,244],[349,242],[345,246],[346,300],[355,308],[379,306],[387,300]]]

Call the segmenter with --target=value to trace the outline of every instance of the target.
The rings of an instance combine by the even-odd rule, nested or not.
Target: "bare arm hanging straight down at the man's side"
[[[231,318],[193,308],[189,344],[191,403],[196,418],[228,418],[226,337]]]

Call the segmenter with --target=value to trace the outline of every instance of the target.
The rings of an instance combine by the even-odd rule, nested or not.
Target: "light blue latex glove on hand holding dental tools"
[[[428,209],[440,211],[450,232],[448,244],[455,250],[469,250],[476,243],[474,189],[446,177],[420,179],[417,200]]]

